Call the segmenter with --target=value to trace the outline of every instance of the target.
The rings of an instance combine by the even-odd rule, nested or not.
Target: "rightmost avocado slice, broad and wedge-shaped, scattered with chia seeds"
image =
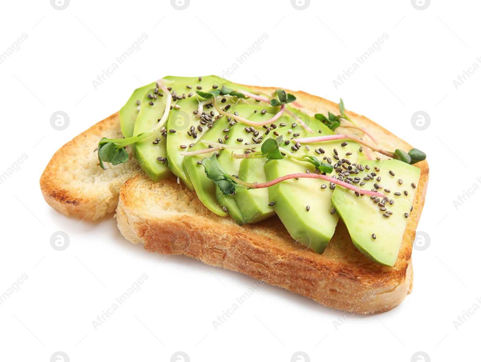
[[[342,187],[336,187],[332,195],[332,205],[344,221],[354,246],[376,263],[392,267],[403,241],[416,194],[414,187],[418,184],[421,170],[395,159],[365,161],[362,164],[369,166],[370,170],[365,170],[359,176],[365,177],[371,172],[376,174],[373,180],[365,181],[363,188],[376,190],[382,185],[379,192],[388,196],[389,200],[385,205],[387,210],[380,210],[378,202],[375,202],[378,200],[372,200],[366,195],[355,196],[353,191]],[[375,167],[379,171],[375,170]],[[378,177],[381,178],[380,181],[377,181]]]

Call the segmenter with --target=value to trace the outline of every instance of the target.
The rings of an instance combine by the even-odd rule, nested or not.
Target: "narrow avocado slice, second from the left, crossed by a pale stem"
[[[162,118],[164,114],[164,97],[157,96],[157,99],[150,98],[149,96],[152,97],[153,94],[154,89],[149,90],[140,103],[140,111],[135,121],[133,131],[134,135],[139,135],[139,133],[154,128],[157,125],[158,119]],[[156,141],[157,139],[159,139],[159,141]],[[166,157],[166,143],[167,140],[165,136],[159,131],[132,144],[132,153],[137,163],[154,182],[164,179],[169,174],[167,165],[165,162],[162,162]],[[158,159],[157,157],[162,158]]]

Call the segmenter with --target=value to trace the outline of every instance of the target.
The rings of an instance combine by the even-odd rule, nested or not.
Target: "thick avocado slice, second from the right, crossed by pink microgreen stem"
[[[312,125],[316,125],[314,121],[312,120],[311,128]],[[323,130],[323,133],[330,134],[332,132]],[[306,136],[309,137],[309,135],[316,136],[311,133]],[[312,155],[319,160],[329,157],[332,161],[326,159],[324,162],[331,161],[335,164],[337,161],[334,155],[337,152],[341,160],[346,158],[351,164],[354,164],[359,154],[359,144],[349,141],[343,147],[341,143],[344,141],[349,140],[309,143],[309,151],[302,145],[296,154]],[[319,149],[322,150],[319,151]],[[336,151],[334,151],[335,149]],[[324,153],[318,154],[316,150]],[[311,173],[314,172],[313,165],[292,158],[269,160],[264,169],[268,181],[292,173],[305,173],[306,169]],[[338,176],[336,171],[333,171],[331,175]],[[340,188],[337,186],[336,189],[338,187]],[[292,179],[280,182],[268,189],[270,202],[275,202],[273,207],[279,219],[296,243],[303,244],[317,253],[322,253],[334,234],[339,219],[335,212],[331,213],[332,190],[329,182],[319,179]]]

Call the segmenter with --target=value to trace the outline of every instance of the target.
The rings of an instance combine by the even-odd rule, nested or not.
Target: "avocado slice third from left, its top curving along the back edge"
[[[220,83],[221,85],[219,85]],[[208,130],[207,123],[210,123],[205,120],[206,117],[196,118],[193,114],[193,112],[198,109],[199,104],[195,90],[201,87],[202,91],[209,91],[213,86],[219,88],[222,87],[222,85],[229,88],[234,87],[235,89],[240,89],[241,87],[217,76],[201,77],[201,80],[198,78],[188,81],[183,80],[181,85],[182,86],[178,88],[176,88],[175,85],[172,86],[177,90],[177,93],[187,93],[187,96],[177,101],[180,109],[172,109],[167,120],[166,128],[176,130],[175,133],[167,134],[167,164],[171,172],[184,182],[190,190],[193,190],[192,182],[189,180],[184,169],[184,156],[181,155],[181,153],[189,151],[190,148],[200,140],[202,134]],[[191,88],[187,88],[188,86]],[[244,89],[244,87],[242,87],[242,89]],[[227,99],[230,101],[231,98],[227,97]],[[205,111],[208,112],[206,109]],[[212,120],[214,121],[215,118],[212,117]],[[183,146],[187,148],[183,148]],[[207,146],[204,145],[204,147]]]

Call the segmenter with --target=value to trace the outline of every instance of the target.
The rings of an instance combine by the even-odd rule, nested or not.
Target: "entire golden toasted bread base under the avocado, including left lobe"
[[[276,89],[249,87],[265,93]],[[289,92],[295,94],[301,109],[310,116],[328,111],[339,114],[336,103],[302,91]],[[348,115],[377,138],[380,148],[412,148],[368,118],[353,112]],[[337,131],[365,138],[358,130]],[[132,158],[126,164],[108,164],[107,171],[102,171],[97,154],[92,153],[102,136],[121,137],[117,115],[65,144],[45,169],[40,180],[42,193],[63,214],[94,220],[113,211],[119,187],[127,180],[118,199],[118,227],[127,240],[143,243],[148,251],[185,254],[355,313],[390,310],[410,293],[412,244],[429,176],[426,161],[416,165],[421,168],[421,177],[398,259],[394,267],[386,267],[372,262],[354,247],[342,220],[319,255],[296,245],[277,217],[238,226],[230,217],[209,211],[195,192],[178,184],[174,177],[152,182],[138,171]]]

